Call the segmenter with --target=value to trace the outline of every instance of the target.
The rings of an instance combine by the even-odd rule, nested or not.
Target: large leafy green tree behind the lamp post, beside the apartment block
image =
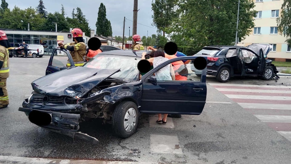
[[[252,0],[240,0],[238,36],[245,38],[254,27]],[[180,0],[179,16],[167,28],[182,45],[200,50],[208,45],[232,45],[235,42],[238,1]]]

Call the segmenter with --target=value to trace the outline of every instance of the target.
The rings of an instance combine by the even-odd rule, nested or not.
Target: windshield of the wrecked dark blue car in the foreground
[[[113,74],[112,78],[123,81],[134,81],[138,79],[139,70],[137,63],[139,58],[135,56],[119,56],[119,55],[96,55],[89,60],[83,67],[98,69],[120,69],[120,72]]]

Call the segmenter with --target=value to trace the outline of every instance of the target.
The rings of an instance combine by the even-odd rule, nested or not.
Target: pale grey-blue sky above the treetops
[[[39,0],[6,0],[8,8],[13,9],[16,5],[20,9],[27,9],[29,7],[35,8],[39,4]],[[72,17],[73,9],[81,8],[83,14],[89,22],[91,29],[96,32],[96,21],[98,17],[98,9],[100,3],[106,7],[106,18],[110,21],[112,27],[112,36],[122,36],[123,34],[123,20],[125,17],[124,36],[132,36],[132,20],[133,20],[133,0],[43,0],[47,12],[61,12],[61,4],[64,5],[66,15]],[[139,0],[138,14],[137,14],[137,34],[142,36],[151,36],[156,34],[156,27],[152,26],[152,1]],[[69,29],[68,29],[69,30]]]

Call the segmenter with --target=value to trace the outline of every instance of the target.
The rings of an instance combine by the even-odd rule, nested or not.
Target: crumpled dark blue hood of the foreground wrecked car
[[[52,96],[82,97],[120,69],[73,67],[41,77],[31,83],[34,91]]]

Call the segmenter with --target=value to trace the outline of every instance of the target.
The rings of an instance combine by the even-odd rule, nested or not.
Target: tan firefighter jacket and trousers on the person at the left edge
[[[8,92],[6,89],[6,79],[9,77],[9,52],[8,49],[0,45],[0,108],[5,108],[9,104]]]

